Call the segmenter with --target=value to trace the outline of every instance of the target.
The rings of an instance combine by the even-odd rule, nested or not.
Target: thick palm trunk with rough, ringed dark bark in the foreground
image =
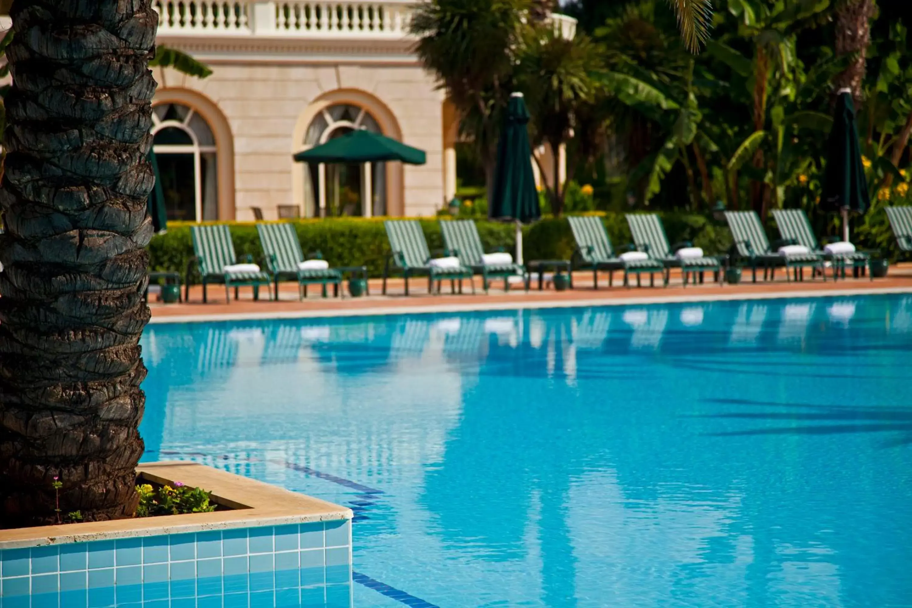
[[[130,516],[146,368],[150,0],[16,0],[0,209],[0,528]]]

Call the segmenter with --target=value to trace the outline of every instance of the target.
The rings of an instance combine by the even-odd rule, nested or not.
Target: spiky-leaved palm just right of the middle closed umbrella
[[[565,38],[549,26],[536,27],[525,36],[517,66],[517,84],[525,94],[529,106],[532,146],[547,143],[552,150],[551,183],[546,188],[555,216],[564,211],[565,194],[569,180],[561,183],[561,155],[567,139],[576,125],[576,116],[585,106],[597,103],[602,85],[596,73],[602,66],[602,51],[585,34]],[[587,132],[578,137],[586,138]],[[544,175],[541,160],[534,155]],[[573,175],[576,157],[567,160],[567,173]]]

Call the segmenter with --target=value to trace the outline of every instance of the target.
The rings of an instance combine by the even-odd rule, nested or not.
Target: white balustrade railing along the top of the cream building
[[[153,0],[164,36],[403,38],[423,0]],[[554,14],[567,38],[576,20]]]

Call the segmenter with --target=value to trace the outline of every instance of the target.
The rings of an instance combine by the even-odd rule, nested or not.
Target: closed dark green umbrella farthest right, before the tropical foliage
[[[833,130],[827,143],[824,191],[820,206],[824,211],[842,213],[843,240],[849,240],[849,211],[864,213],[871,204],[867,193],[865,167],[861,160],[855,105],[852,91],[839,90],[833,115]]]

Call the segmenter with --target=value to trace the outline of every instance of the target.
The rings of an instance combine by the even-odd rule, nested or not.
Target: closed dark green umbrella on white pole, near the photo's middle
[[[532,171],[528,123],[529,110],[525,108],[523,94],[513,93],[497,142],[494,191],[490,193],[488,215],[494,220],[516,222],[516,263],[523,263],[522,224],[542,216]]]

